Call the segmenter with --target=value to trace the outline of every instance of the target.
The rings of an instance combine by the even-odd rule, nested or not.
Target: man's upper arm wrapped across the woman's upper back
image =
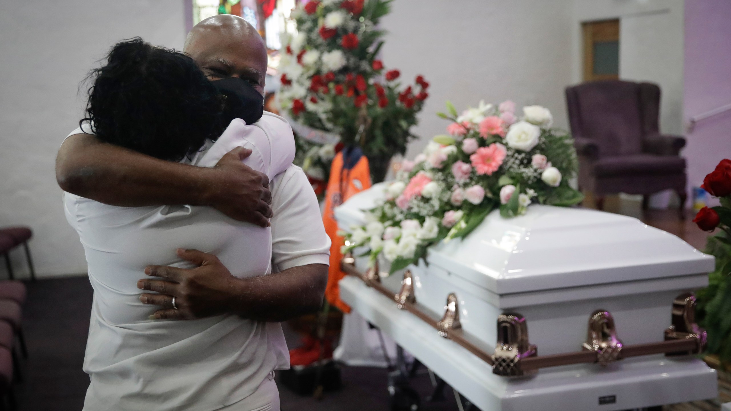
[[[272,216],[269,181],[241,162],[249,154],[236,148],[216,167],[194,167],[77,134],[58,150],[56,181],[66,192],[112,206],[213,206],[234,219],[266,227]]]

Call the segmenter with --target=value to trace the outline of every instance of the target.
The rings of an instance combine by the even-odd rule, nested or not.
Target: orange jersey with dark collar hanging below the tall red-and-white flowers
[[[333,159],[330,167],[330,181],[325,191],[325,212],[322,222],[325,232],[330,235],[333,245],[330,246],[330,270],[327,274],[327,288],[325,298],[331,305],[338,307],[342,312],[350,312],[350,307],[340,299],[338,282],[345,273],[340,269],[340,247],[344,245],[344,238],[339,236],[338,223],[335,221],[333,209],[340,206],[352,195],[371,188],[371,170],[368,159],[358,147],[346,147]]]

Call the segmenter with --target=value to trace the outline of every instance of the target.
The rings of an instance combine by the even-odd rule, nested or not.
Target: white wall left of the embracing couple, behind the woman
[[[80,80],[120,39],[182,48],[185,34],[182,0],[0,1],[0,227],[32,227],[39,276],[86,273],[54,175],[82,113]],[[22,252],[13,261],[25,275]]]

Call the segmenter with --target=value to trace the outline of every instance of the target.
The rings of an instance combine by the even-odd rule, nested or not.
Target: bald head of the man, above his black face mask
[[[211,80],[238,77],[264,93],[267,49],[249,22],[235,15],[216,15],[198,23],[183,51]]]

